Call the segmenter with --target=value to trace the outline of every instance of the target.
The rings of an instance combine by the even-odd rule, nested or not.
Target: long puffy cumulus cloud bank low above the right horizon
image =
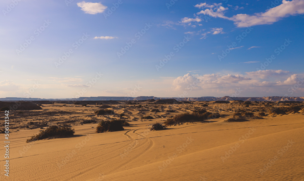
[[[174,91],[180,95],[188,91],[187,97],[195,96],[284,96],[292,85],[304,84],[304,74],[291,74],[283,70],[245,72],[245,74],[205,74],[190,73],[173,80]],[[196,86],[193,85],[196,82]],[[279,86],[279,88],[278,88]],[[190,87],[190,88],[189,88]],[[192,89],[191,89],[192,88]],[[203,89],[203,92],[202,92]],[[241,92],[237,92],[238,90]],[[302,96],[302,88],[292,96]],[[304,89],[303,89],[304,90]],[[291,94],[288,94],[291,96]]]

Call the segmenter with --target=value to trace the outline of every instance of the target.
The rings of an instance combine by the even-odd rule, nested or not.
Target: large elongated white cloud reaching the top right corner
[[[236,24],[237,27],[248,27],[272,24],[284,17],[303,13],[304,0],[283,0],[281,5],[268,9],[266,12],[255,13],[254,15],[237,14],[229,19],[234,21],[234,24]]]

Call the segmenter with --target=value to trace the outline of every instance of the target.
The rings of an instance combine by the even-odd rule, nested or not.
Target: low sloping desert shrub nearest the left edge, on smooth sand
[[[71,129],[70,127],[51,126],[41,131],[39,134],[32,136],[30,139],[27,139],[26,142],[42,140],[49,137],[68,137],[73,136],[74,133],[74,129]]]

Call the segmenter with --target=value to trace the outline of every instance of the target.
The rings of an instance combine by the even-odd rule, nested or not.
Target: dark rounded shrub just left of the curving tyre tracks
[[[96,133],[123,131],[123,122],[121,120],[100,121],[96,127]]]

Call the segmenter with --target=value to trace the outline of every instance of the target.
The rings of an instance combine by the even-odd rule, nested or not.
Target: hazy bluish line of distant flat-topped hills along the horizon
[[[175,99],[178,101],[231,101],[231,100],[242,100],[242,101],[304,101],[304,97],[280,97],[280,96],[269,96],[269,97],[154,97],[154,96],[139,96],[139,97],[79,97],[77,99],[40,99],[40,98],[18,98],[18,97],[6,97],[0,98],[0,101],[56,101],[56,100],[73,100],[73,101],[119,101],[119,100],[149,100],[149,99]]]

